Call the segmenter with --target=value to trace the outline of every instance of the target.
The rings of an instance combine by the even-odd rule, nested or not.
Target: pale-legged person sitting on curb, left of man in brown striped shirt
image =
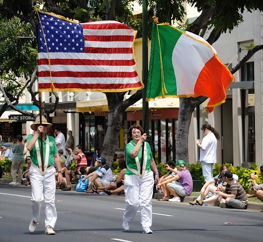
[[[215,176],[213,179],[206,181],[206,183],[203,185],[201,191],[200,191],[200,195],[193,201],[190,201],[191,205],[200,205],[202,206],[204,201],[203,199],[208,195],[209,192],[214,193],[214,191],[217,189],[217,186],[220,184],[222,186],[224,186],[224,181],[222,180],[222,177],[220,176],[221,173],[224,173],[228,171],[228,167],[227,166],[221,166],[220,170],[219,170],[219,174],[217,176]],[[214,186],[214,184],[216,184],[216,186]],[[218,199],[217,195],[213,195],[211,197],[209,197],[208,199],[205,199],[205,203],[213,203]]]

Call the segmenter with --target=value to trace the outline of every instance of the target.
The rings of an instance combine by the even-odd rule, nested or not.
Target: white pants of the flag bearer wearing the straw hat
[[[57,220],[55,209],[55,168],[53,167],[42,176],[33,166],[30,167],[30,183],[32,186],[31,208],[36,223],[40,220],[42,201],[45,200],[45,228],[54,228]]]

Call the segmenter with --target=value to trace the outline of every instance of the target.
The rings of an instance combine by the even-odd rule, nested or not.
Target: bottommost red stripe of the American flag
[[[140,88],[141,82],[133,84],[79,84],[79,83],[53,83],[54,88],[57,89],[134,89]],[[50,83],[40,83],[39,89],[49,89]]]

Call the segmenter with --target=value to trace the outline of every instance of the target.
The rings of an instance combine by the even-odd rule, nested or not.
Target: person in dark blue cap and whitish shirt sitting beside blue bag
[[[93,181],[95,185],[94,191],[98,193],[98,187],[105,187],[108,186],[110,183],[114,183],[114,177],[111,169],[108,165],[106,165],[106,159],[104,157],[97,157],[96,160],[97,162],[99,162],[101,169],[98,170],[96,174],[92,175],[92,177],[88,181],[88,186],[90,186]]]

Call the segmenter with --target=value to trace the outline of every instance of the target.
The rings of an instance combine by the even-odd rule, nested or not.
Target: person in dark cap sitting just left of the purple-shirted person
[[[170,179],[174,177],[177,173],[179,173],[179,171],[177,171],[177,169],[175,168],[175,163],[173,160],[168,160],[168,162],[165,165],[165,168],[167,170],[167,173],[160,178],[159,183],[162,183],[162,181]],[[158,199],[158,201],[168,201],[170,199],[170,191],[167,188],[167,184],[163,184],[161,188],[163,190],[164,195],[162,198]]]

